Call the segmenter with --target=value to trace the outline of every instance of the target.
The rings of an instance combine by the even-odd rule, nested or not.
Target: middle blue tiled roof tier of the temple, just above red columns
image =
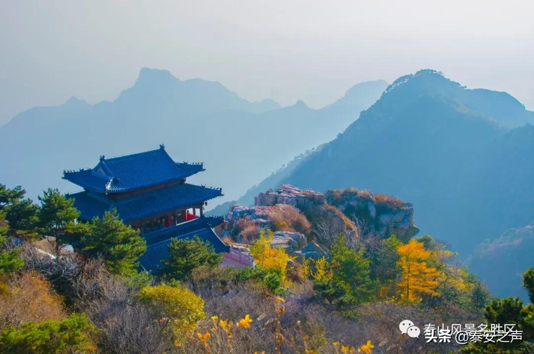
[[[90,220],[96,216],[101,218],[105,211],[112,211],[116,208],[119,217],[124,222],[129,222],[202,203],[222,195],[221,189],[180,183],[115,199],[90,191],[70,194],[67,197],[74,198],[74,206],[80,211],[81,218],[84,220]]]

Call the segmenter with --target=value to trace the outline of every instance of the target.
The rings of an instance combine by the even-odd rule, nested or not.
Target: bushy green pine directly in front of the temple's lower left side
[[[106,211],[102,219],[95,217],[82,237],[83,250],[101,256],[114,274],[132,275],[137,259],[146,250],[146,241],[139,230],[125,225],[117,211]]]

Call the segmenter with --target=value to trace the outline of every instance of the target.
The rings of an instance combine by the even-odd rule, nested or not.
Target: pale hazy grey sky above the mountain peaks
[[[531,0],[0,0],[0,124],[70,96],[113,100],[143,66],[312,107],[435,68],[534,109],[533,14]]]

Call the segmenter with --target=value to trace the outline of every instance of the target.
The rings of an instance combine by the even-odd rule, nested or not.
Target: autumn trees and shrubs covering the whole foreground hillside
[[[330,193],[341,202],[343,195],[359,191]],[[324,198],[310,190],[299,195],[313,203]],[[291,198],[281,193],[277,201]],[[151,276],[136,267],[143,238],[115,213],[75,223],[78,212],[59,191],[50,189],[40,199],[34,204],[22,188],[0,186],[2,352],[502,349],[409,338],[398,330],[398,322],[406,318],[418,324],[506,319],[524,330],[524,340],[510,348],[532,349],[534,305],[513,298],[492,300],[476,276],[430,236],[401,241],[389,233],[358,229],[324,244],[310,234],[309,241],[328,252],[296,260],[272,245],[274,230],[266,226],[251,240],[255,267],[219,267],[221,256],[213,247],[193,239],[172,242],[165,267]],[[395,210],[406,205],[391,197],[378,200]],[[327,210],[331,208],[342,214],[339,206]],[[298,214],[278,214],[271,225],[310,230],[313,216],[305,217],[311,218],[306,222]],[[53,238],[44,237],[52,233]],[[65,250],[65,243],[76,244],[81,254]],[[529,270],[523,281],[534,298],[532,279],[534,270]]]

